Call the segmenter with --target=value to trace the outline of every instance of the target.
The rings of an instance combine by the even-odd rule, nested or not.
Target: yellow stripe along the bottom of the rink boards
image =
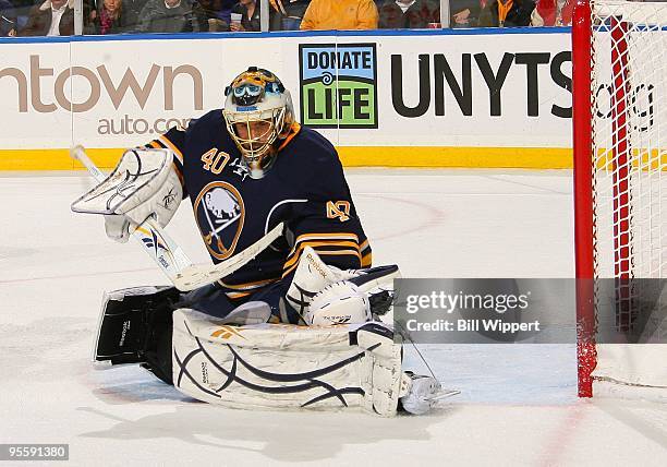
[[[339,146],[347,167],[572,168],[572,149],[554,147]],[[100,168],[113,168],[123,148],[90,148]],[[0,149],[0,170],[82,169],[69,148]]]

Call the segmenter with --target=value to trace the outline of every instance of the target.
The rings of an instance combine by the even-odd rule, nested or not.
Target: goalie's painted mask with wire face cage
[[[264,177],[294,121],[290,92],[268,70],[251,67],[225,89],[222,116],[251,178]]]

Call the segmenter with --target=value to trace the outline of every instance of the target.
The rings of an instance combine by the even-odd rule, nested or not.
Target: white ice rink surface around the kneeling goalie
[[[375,264],[404,277],[573,276],[570,171],[348,175]],[[395,419],[223,409],[135,367],[95,371],[102,292],[165,278],[136,244],[107,240],[101,219],[70,212],[88,185],[83,172],[0,176],[0,443],[69,443],[81,466],[667,465],[667,406],[579,400],[568,346],[423,347],[462,394]],[[169,230],[205,262],[189,207]]]

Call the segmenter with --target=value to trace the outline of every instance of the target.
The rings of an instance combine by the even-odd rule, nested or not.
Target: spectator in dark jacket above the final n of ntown
[[[138,19],[138,33],[191,33],[201,31],[186,0],[148,0]]]

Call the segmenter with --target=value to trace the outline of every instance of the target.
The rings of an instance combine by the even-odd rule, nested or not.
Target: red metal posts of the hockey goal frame
[[[621,16],[609,17],[611,97],[610,159],[597,159],[593,134],[592,7],[590,0],[578,0],[572,19],[572,132],[574,168],[574,249],[577,277],[577,357],[580,397],[593,395],[592,372],[597,366],[596,332],[596,241],[595,170],[610,170],[613,189],[613,254],[617,325],[629,325],[632,307],[630,288],[633,279],[632,196],[629,179],[632,147],[629,140],[630,79],[628,65],[628,23]],[[603,58],[604,59],[604,58]]]

